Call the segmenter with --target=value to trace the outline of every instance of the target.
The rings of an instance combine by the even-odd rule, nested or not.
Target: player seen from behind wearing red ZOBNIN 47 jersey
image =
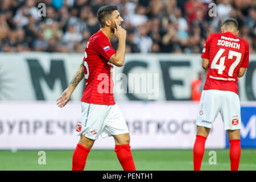
[[[249,65],[249,44],[237,37],[238,23],[229,18],[222,23],[221,33],[210,34],[202,52],[202,67],[207,70],[204,90],[197,113],[197,134],[193,147],[194,170],[200,170],[205,140],[221,113],[230,142],[231,170],[238,170],[241,146],[241,111],[238,97],[238,77]]]

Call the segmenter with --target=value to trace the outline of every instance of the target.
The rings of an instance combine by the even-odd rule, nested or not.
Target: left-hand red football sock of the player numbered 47
[[[205,147],[205,140],[207,138],[196,135],[196,141],[193,147],[193,163],[194,163],[194,171],[200,171],[201,163],[204,157],[204,147]]]

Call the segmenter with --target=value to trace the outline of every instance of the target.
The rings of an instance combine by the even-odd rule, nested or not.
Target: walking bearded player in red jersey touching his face
[[[125,60],[126,31],[121,27],[123,19],[117,6],[101,7],[97,17],[101,29],[88,40],[80,68],[57,99],[59,107],[65,106],[77,84],[85,77],[86,86],[81,99],[82,117],[76,129],[80,140],[73,153],[72,170],[84,170],[90,148],[101,135],[102,138],[114,137],[114,151],[123,170],[135,171],[129,131],[113,97],[113,65],[122,67]],[[110,43],[113,35],[119,40],[116,52]]]

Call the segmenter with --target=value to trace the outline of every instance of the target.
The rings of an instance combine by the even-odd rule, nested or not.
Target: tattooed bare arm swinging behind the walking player
[[[84,61],[82,61],[82,64],[80,65],[76,74],[73,76],[71,82],[68,85],[68,88],[65,89],[62,95],[56,100],[57,105],[60,108],[64,107],[70,100],[71,94],[76,89],[76,86],[79,84],[82,78],[84,78]]]

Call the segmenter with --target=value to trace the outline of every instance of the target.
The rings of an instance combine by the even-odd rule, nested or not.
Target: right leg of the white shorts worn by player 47
[[[241,106],[238,95],[234,92],[222,91],[221,117],[225,130],[241,129]]]

